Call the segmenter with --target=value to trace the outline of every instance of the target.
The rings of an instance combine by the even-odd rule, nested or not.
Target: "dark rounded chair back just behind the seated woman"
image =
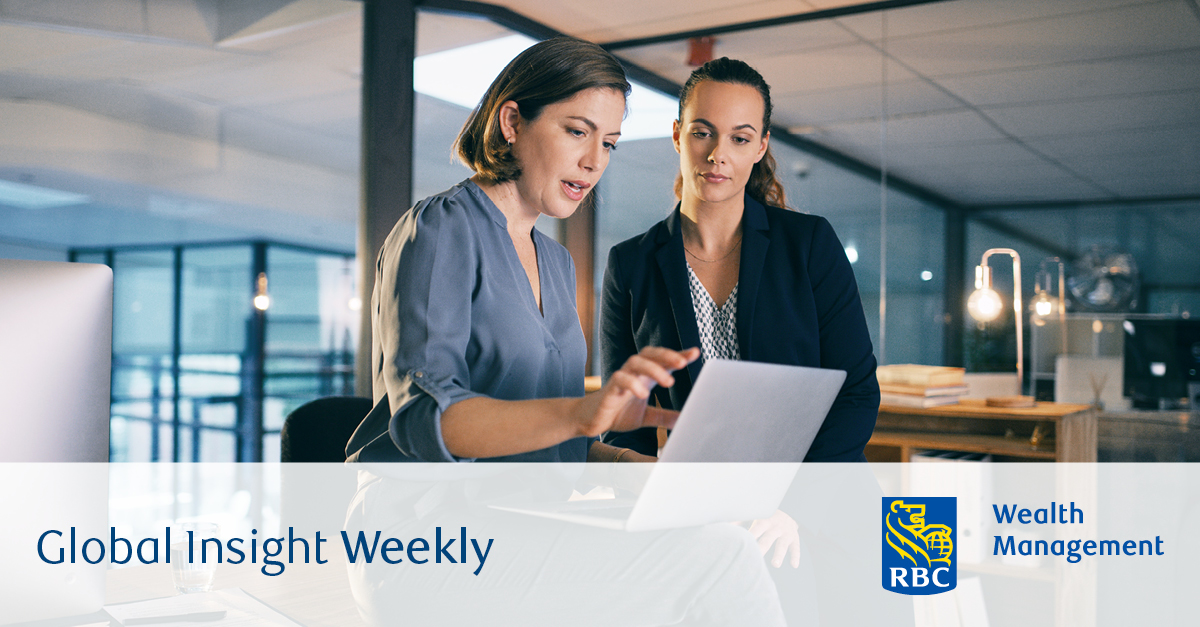
[[[359,396],[325,396],[296,407],[280,431],[280,461],[346,461],[346,443],[372,405]]]

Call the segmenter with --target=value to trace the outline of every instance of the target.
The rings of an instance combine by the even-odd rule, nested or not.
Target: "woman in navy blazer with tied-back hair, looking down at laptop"
[[[604,375],[646,346],[701,346],[696,307],[707,303],[703,317],[715,312],[716,329],[722,310],[734,307],[726,321],[726,339],[733,342],[732,353],[724,347],[726,356],[847,374],[805,461],[865,460],[880,388],[858,286],[829,222],[780,208],[782,185],[774,175],[769,136],[769,88],[756,71],[718,59],[692,73],[673,132],[680,203],[608,255],[600,323]],[[702,365],[703,358],[676,372],[672,388],[655,388],[655,401],[683,407]],[[612,436],[606,441],[616,446],[656,452],[654,429]]]

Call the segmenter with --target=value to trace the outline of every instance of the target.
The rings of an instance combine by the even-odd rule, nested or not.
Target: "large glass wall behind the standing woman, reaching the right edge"
[[[1194,7],[964,0],[817,13],[731,26],[709,43],[714,56],[744,59],[772,84],[772,148],[788,205],[826,216],[841,238],[881,364],[1013,372],[1016,315],[1028,375],[1038,335],[1028,307],[1039,289],[1057,295],[1055,262],[1055,285],[1039,282],[1051,257],[1064,263],[1069,283],[1109,271],[1090,261],[1097,250],[1135,262],[1132,275],[1099,281],[1098,292],[1068,288],[1070,315],[1196,314]],[[1098,32],[1114,36],[1100,42]],[[691,70],[686,37],[698,35],[706,32],[607,46],[682,84]],[[608,246],[674,202],[670,141],[642,143],[623,142],[601,184],[596,285]],[[995,247],[1021,256],[1024,311],[1013,311],[1009,258],[992,257],[1004,307],[978,323],[965,305],[974,267]],[[1126,282],[1136,283],[1132,298],[1092,301]],[[1052,356],[1049,369],[1052,388]],[[1031,389],[1030,376],[1022,389]],[[1052,399],[1052,389],[1039,389]]]

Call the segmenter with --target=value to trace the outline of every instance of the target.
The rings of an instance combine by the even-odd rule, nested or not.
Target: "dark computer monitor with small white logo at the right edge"
[[[1196,405],[1200,387],[1200,321],[1127,320],[1124,394],[1139,408]]]

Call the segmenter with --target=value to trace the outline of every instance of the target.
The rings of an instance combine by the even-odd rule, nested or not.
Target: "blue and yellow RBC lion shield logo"
[[[959,583],[953,496],[883,498],[883,589],[937,595]]]

